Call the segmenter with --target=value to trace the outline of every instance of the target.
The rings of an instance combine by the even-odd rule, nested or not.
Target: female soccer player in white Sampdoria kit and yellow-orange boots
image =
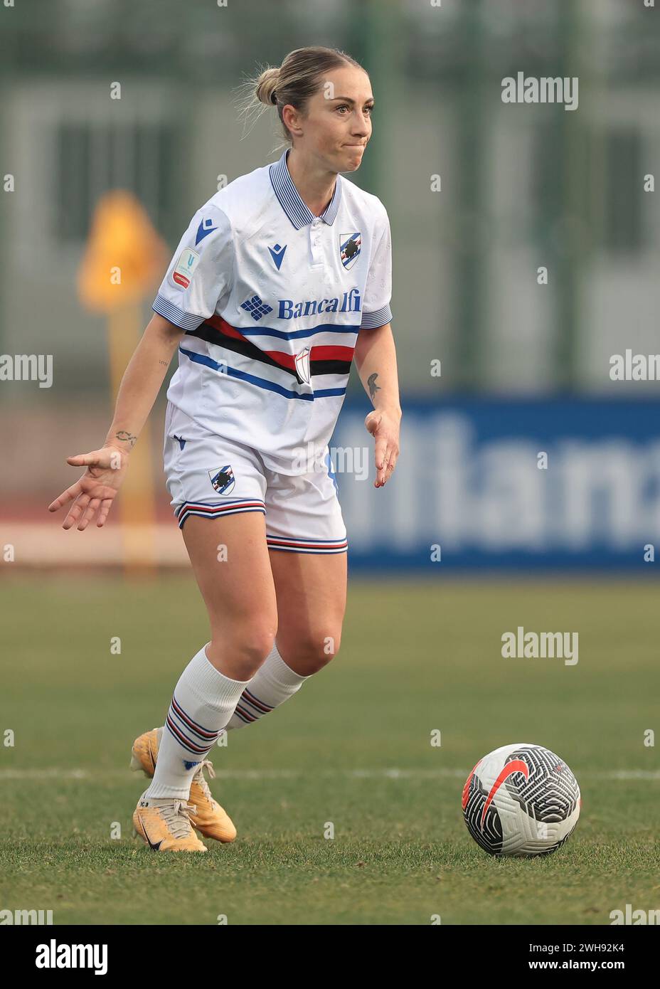
[[[373,405],[374,487],[398,455],[389,221],[340,174],[360,167],[371,137],[369,75],[312,46],[251,85],[252,105],[277,107],[287,147],[193,217],[104,446],[67,458],[87,471],[49,505],[73,501],[65,529],[95,514],[104,525],[178,349],[165,473],[211,639],[181,675],[164,728],[133,744],[132,767],[153,775],[133,825],[160,852],[206,852],[194,827],[233,841],[206,755],[223,729],[284,703],[339,650],[347,539],[328,441],[354,357]]]

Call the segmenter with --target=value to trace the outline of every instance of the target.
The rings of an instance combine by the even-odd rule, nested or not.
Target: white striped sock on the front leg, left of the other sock
[[[175,687],[146,799],[188,800],[198,765],[215,745],[250,682],[229,679],[216,670],[206,657],[206,646],[193,657]]]

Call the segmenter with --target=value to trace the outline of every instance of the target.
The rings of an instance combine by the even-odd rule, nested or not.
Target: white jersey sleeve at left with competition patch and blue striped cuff
[[[152,310],[181,329],[197,329],[231,291],[233,236],[216,206],[195,214],[179,241]]]

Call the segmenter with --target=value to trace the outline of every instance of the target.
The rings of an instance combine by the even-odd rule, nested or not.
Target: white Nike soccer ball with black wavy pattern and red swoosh
[[[505,745],[480,759],[462,794],[467,830],[491,855],[547,855],[572,834],[580,787],[568,766],[542,746]]]

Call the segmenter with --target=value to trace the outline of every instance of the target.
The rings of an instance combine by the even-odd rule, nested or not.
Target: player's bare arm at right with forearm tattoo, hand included
[[[375,440],[374,488],[389,481],[399,455],[401,404],[396,371],[396,348],[388,322],[375,329],[364,326],[358,334],[354,360],[373,410],[365,425]]]

